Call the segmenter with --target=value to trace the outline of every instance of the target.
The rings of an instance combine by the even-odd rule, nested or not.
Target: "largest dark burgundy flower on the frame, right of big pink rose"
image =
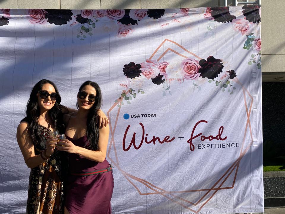
[[[216,59],[213,56],[209,56],[207,61],[205,59],[201,59],[199,65],[201,66],[199,69],[200,77],[208,79],[214,79],[218,77],[218,75],[222,72],[224,67],[223,63],[221,63],[221,59]]]

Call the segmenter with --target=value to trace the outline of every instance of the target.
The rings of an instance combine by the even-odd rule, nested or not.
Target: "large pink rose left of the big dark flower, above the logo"
[[[199,62],[192,58],[183,59],[181,62],[181,74],[185,79],[194,80],[199,78]]]

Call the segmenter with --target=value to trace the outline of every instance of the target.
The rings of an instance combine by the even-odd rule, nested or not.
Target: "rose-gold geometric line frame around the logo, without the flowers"
[[[166,42],[173,43],[173,44],[177,45],[178,47],[180,47],[181,49],[183,49],[184,51],[186,51],[187,53],[197,57],[198,59],[202,59],[199,56],[191,53],[190,51],[188,51],[186,48],[184,48],[183,46],[179,45],[178,43],[176,43],[176,42],[174,42],[172,40],[168,40],[168,39],[165,39],[159,45],[159,47],[153,52],[153,54],[151,55],[151,57],[149,59],[152,59],[153,56],[159,50],[159,48],[161,48],[161,46],[164,43],[166,43]],[[159,61],[168,51],[172,51],[173,53],[175,53],[175,54],[177,54],[179,56],[182,56],[184,58],[188,58],[187,56],[184,56],[184,55],[178,53],[177,51],[175,51],[175,50],[173,50],[171,48],[167,48],[167,50],[164,51],[164,53],[161,56],[159,56],[157,61]],[[247,115],[247,118],[246,118],[246,128],[244,130],[244,136],[243,136],[243,142],[242,142],[242,145],[241,145],[240,156],[237,158],[237,160],[235,160],[234,163],[232,163],[232,165],[227,169],[227,171],[223,175],[221,175],[219,180],[209,189],[196,189],[196,190],[186,190],[186,191],[166,191],[166,190],[164,190],[162,188],[159,188],[159,187],[153,185],[151,182],[149,182],[147,180],[144,180],[142,178],[133,176],[132,174],[124,171],[123,169],[121,169],[119,161],[118,161],[117,151],[116,151],[116,147],[115,147],[115,139],[114,139],[114,134],[115,134],[115,131],[116,131],[118,117],[119,117],[119,114],[120,114],[121,107],[118,107],[115,122],[113,122],[110,119],[110,112],[114,110],[114,108],[118,105],[118,102],[121,105],[123,97],[122,96],[119,97],[117,99],[118,102],[115,102],[113,104],[113,106],[107,111],[107,116],[108,116],[108,119],[110,121],[110,131],[111,131],[111,140],[110,140],[110,144],[109,144],[108,151],[107,151],[107,157],[112,162],[112,164],[114,166],[116,166],[118,168],[118,170],[123,174],[123,176],[126,178],[126,180],[128,180],[134,186],[134,188],[138,191],[138,193],[140,195],[160,194],[160,195],[164,196],[165,198],[175,202],[176,204],[181,205],[182,207],[184,207],[184,208],[186,208],[188,210],[191,210],[194,213],[199,213],[199,211],[205,206],[205,204],[207,204],[219,190],[234,188],[240,161],[241,161],[241,159],[243,158],[243,156],[246,154],[246,152],[248,151],[248,149],[250,148],[250,146],[253,143],[253,137],[252,137],[252,131],[251,131],[251,122],[250,122],[250,114],[251,114],[251,107],[252,107],[252,104],[253,104],[253,97],[248,92],[248,90],[243,86],[243,84],[238,80],[237,77],[235,77],[232,81],[235,81],[237,84],[239,84],[242,87],[243,97],[244,97],[244,105],[245,105],[245,110],[246,110],[246,115]],[[126,93],[126,95],[128,95],[130,93],[129,91],[124,91],[124,92]],[[248,108],[248,105],[247,105],[247,97],[249,97],[249,99],[250,99],[249,108]],[[249,132],[250,132],[250,139],[251,139],[251,141],[247,145],[247,147],[244,148],[244,144],[245,144],[246,134],[247,134],[248,128],[249,128]],[[114,154],[115,154],[115,160],[113,160],[113,158],[110,156],[110,151],[111,151],[112,147],[113,147]],[[222,187],[224,182],[229,178],[229,176],[234,172],[234,170],[235,170],[235,173],[234,173],[234,179],[233,179],[232,185],[228,186],[228,187]],[[140,191],[140,189],[134,184],[134,182],[132,182],[130,180],[130,178],[133,179],[133,180],[136,180],[136,181],[138,181],[140,183],[142,183],[143,185],[145,185],[148,189],[152,190],[153,192],[148,193],[148,192]],[[213,191],[213,193],[211,193],[212,191]],[[201,194],[202,196],[196,202],[191,202],[189,200],[184,199],[181,196],[175,195],[175,193],[190,193],[190,192],[206,192],[206,193],[204,195]],[[208,199],[207,199],[207,197],[208,197]],[[199,206],[199,208],[197,208],[197,210],[194,210],[193,209],[194,206],[199,205],[200,202],[202,202],[203,199],[207,199],[207,200],[203,204],[201,204]],[[189,205],[182,204],[181,201],[183,201],[184,203],[186,202]]]

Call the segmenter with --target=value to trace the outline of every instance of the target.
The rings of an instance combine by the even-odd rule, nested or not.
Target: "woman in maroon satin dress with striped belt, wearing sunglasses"
[[[109,125],[96,126],[97,111],[102,105],[98,84],[84,82],[77,94],[77,112],[66,114],[66,138],[58,150],[69,153],[69,177],[65,213],[108,214],[114,181],[112,167],[106,160]]]

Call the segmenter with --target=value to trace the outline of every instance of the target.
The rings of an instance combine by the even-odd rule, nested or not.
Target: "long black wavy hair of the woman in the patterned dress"
[[[42,89],[42,86],[47,83],[51,84],[54,87],[56,93],[58,94],[58,97],[56,98],[56,102],[53,108],[48,110],[48,115],[52,119],[52,124],[53,124],[54,129],[58,129],[60,132],[61,130],[64,130],[64,125],[62,121],[63,114],[61,112],[61,108],[64,106],[60,105],[61,97],[58,93],[58,89],[52,81],[42,79],[34,85],[31,91],[30,98],[28,100],[27,107],[26,107],[26,117],[22,120],[22,121],[26,121],[29,123],[28,134],[31,140],[35,144],[43,142],[43,137],[40,133],[39,126],[38,126],[38,118],[40,114],[40,109],[38,106],[37,93]]]

